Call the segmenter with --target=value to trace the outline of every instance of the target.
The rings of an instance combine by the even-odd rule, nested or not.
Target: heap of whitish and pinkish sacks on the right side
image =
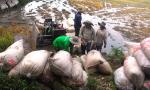
[[[150,76],[150,37],[140,43],[125,42],[128,55],[122,67],[114,72],[114,80],[119,90],[141,90],[145,77]],[[150,85],[148,85],[150,87]]]

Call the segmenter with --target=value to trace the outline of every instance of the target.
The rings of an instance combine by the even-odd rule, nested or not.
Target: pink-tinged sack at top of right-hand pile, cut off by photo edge
[[[150,37],[141,41],[141,47],[146,57],[150,60]]]

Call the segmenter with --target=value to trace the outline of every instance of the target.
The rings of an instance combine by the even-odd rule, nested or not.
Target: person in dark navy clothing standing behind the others
[[[81,16],[81,12],[79,11],[75,14],[75,18],[74,18],[75,36],[79,36],[79,32],[81,28],[81,20],[82,20],[82,16]]]

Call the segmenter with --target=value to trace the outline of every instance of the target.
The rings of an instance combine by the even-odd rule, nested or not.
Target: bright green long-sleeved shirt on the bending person
[[[59,36],[53,41],[53,46],[59,50],[71,52],[73,45],[70,42],[69,36]]]

